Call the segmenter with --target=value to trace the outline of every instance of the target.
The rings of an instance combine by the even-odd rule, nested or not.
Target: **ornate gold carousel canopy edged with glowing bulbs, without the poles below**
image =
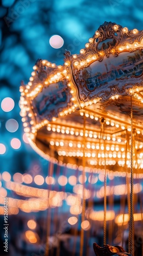
[[[31,146],[70,168],[82,169],[84,155],[89,171],[102,169],[105,158],[107,169],[129,171],[132,98],[134,167],[142,173],[143,31],[105,22],[80,54],[64,56],[63,66],[38,60],[21,84],[20,115]]]

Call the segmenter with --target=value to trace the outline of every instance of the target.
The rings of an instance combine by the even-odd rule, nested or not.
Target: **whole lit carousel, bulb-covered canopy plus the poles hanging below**
[[[77,214],[81,221],[80,256],[84,255],[84,225],[90,219],[90,228],[96,226],[101,217],[97,218],[92,207],[96,185],[92,186],[92,196],[87,195],[87,174],[90,179],[102,175],[104,182],[104,245],[93,243],[94,253],[134,256],[134,223],[140,221],[142,225],[143,219],[139,196],[142,188],[139,182],[135,184],[143,174],[142,68],[143,31],[105,22],[79,54],[65,51],[63,66],[38,59],[30,81],[20,86],[20,115],[33,149],[67,172],[68,168],[79,170],[82,176],[81,210]],[[109,204],[109,198],[115,194],[108,177],[124,177],[126,181],[121,188],[124,210],[116,218],[107,205],[107,198]],[[134,207],[136,200],[139,210]],[[47,201],[50,208],[50,196]],[[75,212],[71,214],[74,216]],[[121,230],[120,245],[107,244],[112,241],[107,239],[113,231],[108,223],[110,218]],[[125,231],[128,252],[123,249]],[[45,255],[49,255],[49,232]]]

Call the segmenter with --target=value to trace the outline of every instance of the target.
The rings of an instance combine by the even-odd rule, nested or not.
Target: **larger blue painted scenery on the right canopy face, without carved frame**
[[[80,71],[89,91],[103,84],[116,82],[117,79],[140,77],[143,74],[143,50],[121,53],[117,57],[104,57],[102,62],[95,61]]]

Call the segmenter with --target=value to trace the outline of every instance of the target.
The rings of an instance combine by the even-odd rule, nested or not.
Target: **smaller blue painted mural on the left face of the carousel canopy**
[[[52,83],[43,88],[42,92],[33,100],[34,109],[38,113],[37,118],[51,119],[52,116],[58,115],[61,108],[69,106],[71,96],[67,91],[68,88],[64,82]]]

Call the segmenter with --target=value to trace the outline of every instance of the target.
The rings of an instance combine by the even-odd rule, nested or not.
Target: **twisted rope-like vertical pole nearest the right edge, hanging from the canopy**
[[[130,253],[134,256],[134,191],[133,191],[133,108],[131,96],[131,192],[130,192]]]

